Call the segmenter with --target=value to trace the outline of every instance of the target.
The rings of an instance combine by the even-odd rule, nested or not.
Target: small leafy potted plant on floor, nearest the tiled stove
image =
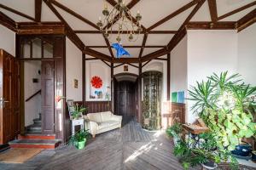
[[[166,134],[173,138],[174,145],[181,139],[181,133],[183,131],[182,124],[174,123],[172,127],[166,129]]]

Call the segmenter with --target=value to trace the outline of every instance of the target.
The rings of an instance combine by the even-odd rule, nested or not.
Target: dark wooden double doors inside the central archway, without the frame
[[[115,111],[122,116],[136,115],[135,83],[122,81],[115,83]]]

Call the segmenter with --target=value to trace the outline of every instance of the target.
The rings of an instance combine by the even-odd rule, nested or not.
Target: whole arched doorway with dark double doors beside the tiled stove
[[[137,75],[120,73],[114,76],[114,113],[125,121],[137,118]]]

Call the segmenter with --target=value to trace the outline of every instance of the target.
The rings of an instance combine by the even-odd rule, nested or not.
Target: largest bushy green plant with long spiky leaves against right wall
[[[238,74],[228,77],[228,72],[207,77],[207,82],[196,82],[189,90],[189,99],[195,101],[192,110],[204,120],[214,133],[218,148],[235,150],[242,138],[255,134],[255,123],[250,106],[256,87],[239,79]]]

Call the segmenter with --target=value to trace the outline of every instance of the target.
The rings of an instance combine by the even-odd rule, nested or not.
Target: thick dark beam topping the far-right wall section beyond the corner
[[[256,8],[236,22],[237,31],[242,31],[256,22]]]

